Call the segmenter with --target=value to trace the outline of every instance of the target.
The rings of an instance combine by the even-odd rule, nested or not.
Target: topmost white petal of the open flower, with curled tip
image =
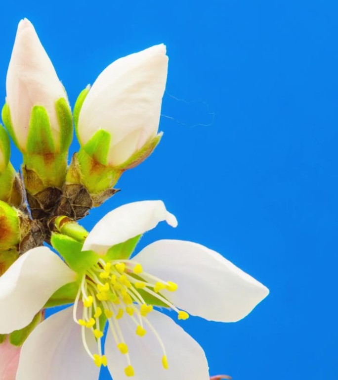
[[[83,250],[105,254],[107,249],[146,231],[152,230],[161,221],[177,226],[176,218],[170,214],[162,200],[145,200],[128,203],[105,215],[85,239]]]

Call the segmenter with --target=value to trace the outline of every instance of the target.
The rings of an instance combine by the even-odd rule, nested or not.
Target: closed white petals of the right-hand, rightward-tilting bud
[[[118,166],[151,142],[159,128],[167,70],[163,44],[120,58],[103,70],[81,107],[81,145],[99,130],[108,132],[108,164]]]

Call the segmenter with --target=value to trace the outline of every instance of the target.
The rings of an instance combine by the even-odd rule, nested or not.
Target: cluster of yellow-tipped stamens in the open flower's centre
[[[161,290],[175,291],[177,285],[171,281],[163,281],[143,271],[142,266],[133,260],[113,260],[105,262],[100,259],[97,264],[86,271],[75,300],[74,321],[82,326],[82,340],[84,348],[94,363],[101,367],[107,365],[107,358],[102,354],[101,338],[106,320],[109,331],[112,333],[117,348],[126,357],[127,367],[125,374],[134,376],[134,369],[128,354],[128,346],[123,331],[120,328],[121,318],[130,318],[135,325],[135,334],[144,336],[149,329],[159,342],[162,350],[162,365],[168,369],[168,359],[165,345],[150,323],[147,315],[153,306],[144,300],[146,296],[157,299],[160,304],[166,305],[177,312],[178,319],[187,319],[189,314],[178,310],[161,294]],[[84,304],[83,315],[77,319],[79,301]],[[89,329],[97,342],[97,353],[92,353],[86,341],[86,329]]]

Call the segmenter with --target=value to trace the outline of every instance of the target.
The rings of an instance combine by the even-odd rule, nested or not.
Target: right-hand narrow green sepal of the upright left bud
[[[60,125],[60,152],[65,152],[73,140],[72,111],[64,97],[60,97],[60,99],[56,101],[55,108]]]

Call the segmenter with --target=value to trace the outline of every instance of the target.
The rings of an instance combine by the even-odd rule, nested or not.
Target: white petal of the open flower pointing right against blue
[[[236,322],[269,290],[219,253],[190,241],[159,240],[134,258],[145,272],[178,285],[163,293],[177,307],[211,321]]]

